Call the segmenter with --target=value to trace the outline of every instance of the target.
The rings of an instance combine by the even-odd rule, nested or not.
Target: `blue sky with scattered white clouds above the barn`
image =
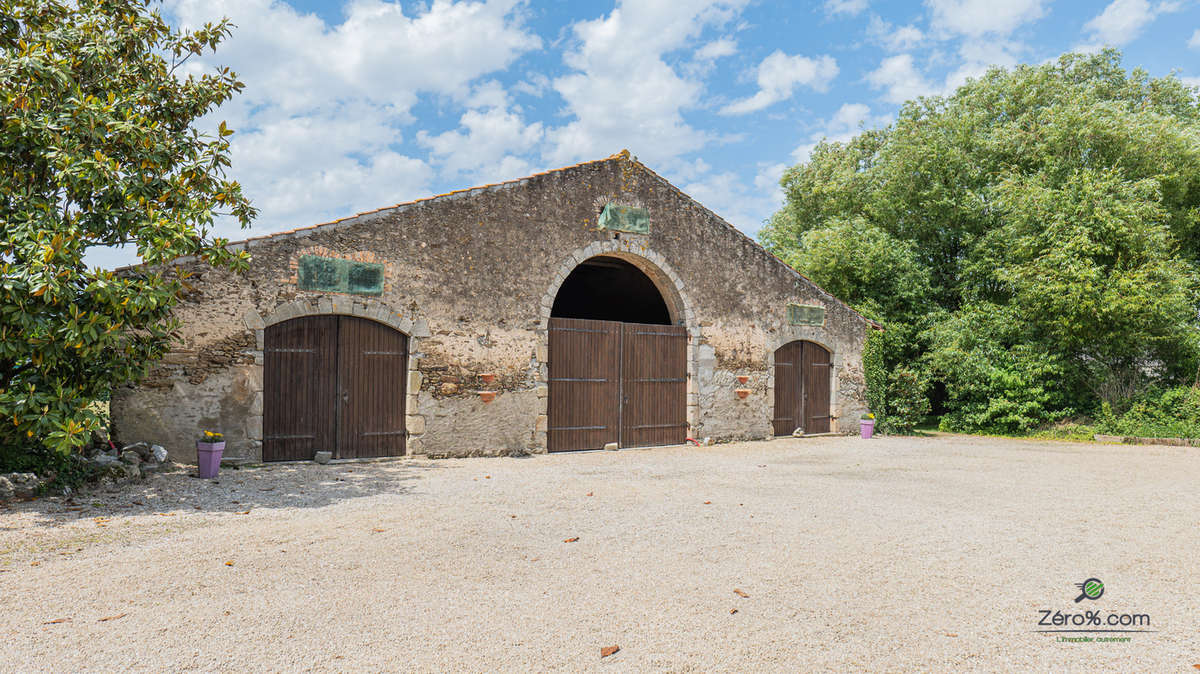
[[[817,140],[887,125],[989,65],[1109,44],[1200,85],[1200,0],[166,0],[164,13],[238,24],[188,66],[246,82],[204,124],[238,131],[252,234],[628,148],[754,235]]]

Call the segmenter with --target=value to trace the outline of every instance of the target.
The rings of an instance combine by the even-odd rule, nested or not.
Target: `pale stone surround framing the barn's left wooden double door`
[[[257,386],[253,391],[253,407],[256,416],[246,422],[246,437],[251,441],[250,451],[253,456],[247,457],[254,461],[263,458],[263,345],[268,325],[283,323],[294,318],[308,315],[353,315],[373,320],[388,325],[408,336],[408,363],[406,369],[408,391],[404,401],[404,428],[408,431],[407,451],[409,456],[424,453],[422,437],[425,435],[425,416],[419,414],[421,375],[418,369],[420,363],[420,339],[430,336],[428,323],[416,318],[414,312],[400,312],[385,302],[373,297],[349,297],[346,295],[302,297],[276,306],[264,318],[254,309],[247,311],[242,315],[246,329],[254,333],[254,368],[257,377],[253,378]]]

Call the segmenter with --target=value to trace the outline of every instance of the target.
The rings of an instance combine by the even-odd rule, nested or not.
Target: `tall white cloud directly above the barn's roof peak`
[[[574,24],[578,42],[563,59],[572,72],[556,78],[553,88],[575,119],[547,130],[548,161],[563,164],[629,148],[665,167],[713,140],[683,118],[702,101],[703,82],[664,56],[692,44],[704,28],[725,25],[746,1],[623,0],[606,17]]]

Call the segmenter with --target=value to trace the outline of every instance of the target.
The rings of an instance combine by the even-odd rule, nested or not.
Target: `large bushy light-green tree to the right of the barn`
[[[1025,429],[1195,375],[1200,102],[1174,76],[1114,50],[994,68],[820,145],[782,186],[764,245],[916,327],[888,368],[928,373],[956,428]],[[894,249],[847,255],[844,237]]]

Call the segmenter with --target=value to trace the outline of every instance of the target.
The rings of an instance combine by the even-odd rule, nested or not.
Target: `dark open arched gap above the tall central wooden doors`
[[[620,258],[584,260],[566,277],[550,315],[671,325],[671,312],[642,270]]]

